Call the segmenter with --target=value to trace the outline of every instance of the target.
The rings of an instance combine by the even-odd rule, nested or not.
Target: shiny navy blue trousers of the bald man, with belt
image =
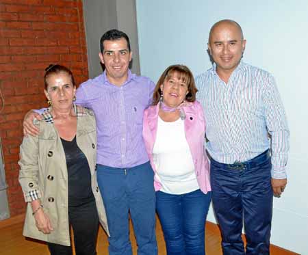
[[[268,151],[238,165],[211,159],[212,201],[224,255],[270,254],[271,167]],[[241,237],[243,220],[246,252]]]

